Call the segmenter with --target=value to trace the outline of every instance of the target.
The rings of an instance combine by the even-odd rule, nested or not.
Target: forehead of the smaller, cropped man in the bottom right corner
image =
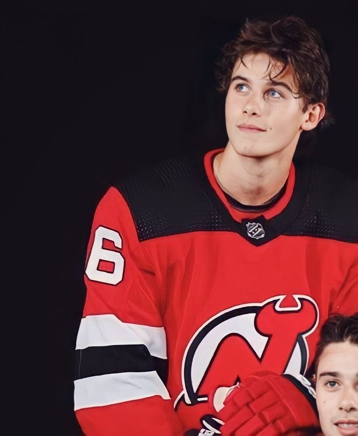
[[[339,342],[327,345],[322,351],[317,373],[340,372],[357,374],[358,345],[351,342]]]

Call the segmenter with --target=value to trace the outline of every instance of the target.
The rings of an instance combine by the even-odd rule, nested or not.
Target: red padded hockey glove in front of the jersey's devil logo
[[[305,379],[304,379],[305,380]],[[223,436],[277,436],[300,427],[317,426],[314,399],[307,385],[292,376],[269,371],[251,375],[233,388],[218,417]],[[304,391],[307,391],[303,393]]]

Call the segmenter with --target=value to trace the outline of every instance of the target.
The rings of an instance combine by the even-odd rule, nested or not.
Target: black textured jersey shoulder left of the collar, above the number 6
[[[220,227],[202,154],[167,159],[115,183],[140,241]]]

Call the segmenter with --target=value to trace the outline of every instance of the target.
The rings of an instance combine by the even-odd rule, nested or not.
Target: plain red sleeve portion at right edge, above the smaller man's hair
[[[330,314],[353,315],[358,312],[358,244],[354,244],[354,260],[346,269],[344,280],[334,295]]]

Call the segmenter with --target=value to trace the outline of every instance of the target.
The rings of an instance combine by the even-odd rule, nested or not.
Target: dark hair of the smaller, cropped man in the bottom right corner
[[[323,324],[315,356],[315,372],[324,348],[338,342],[358,345],[358,312],[352,316],[332,315]]]

